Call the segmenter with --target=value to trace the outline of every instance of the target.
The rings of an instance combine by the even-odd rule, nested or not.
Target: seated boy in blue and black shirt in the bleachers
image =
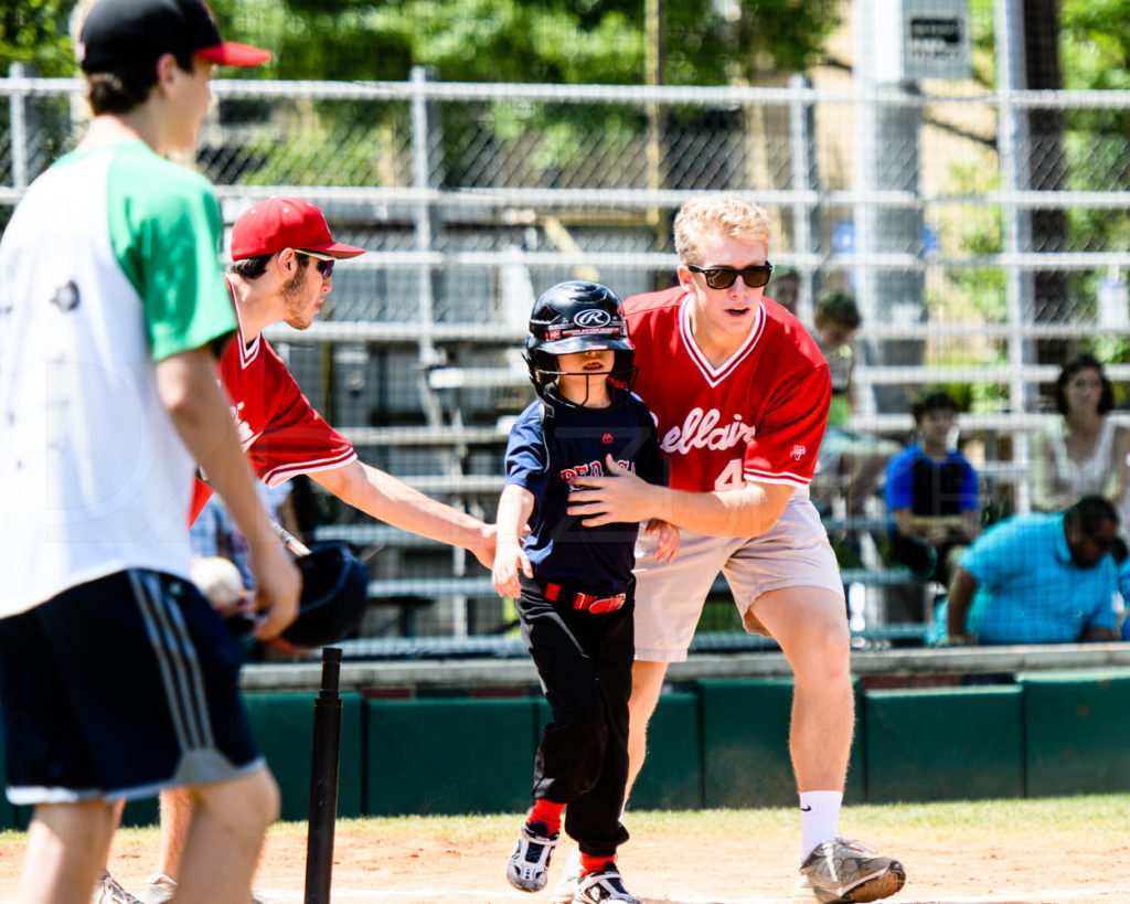
[[[890,557],[924,581],[948,584],[953,560],[980,532],[977,472],[949,447],[957,416],[949,393],[929,392],[913,411],[918,440],[887,466]]]

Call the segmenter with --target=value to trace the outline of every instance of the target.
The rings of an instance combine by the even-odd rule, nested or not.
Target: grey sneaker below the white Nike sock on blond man
[[[895,894],[906,881],[906,870],[889,857],[870,857],[873,847],[836,838],[816,845],[800,864],[793,902],[860,904]]]

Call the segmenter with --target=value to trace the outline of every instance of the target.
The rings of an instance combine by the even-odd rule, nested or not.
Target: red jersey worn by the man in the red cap
[[[238,320],[238,305],[235,313]],[[353,444],[314,410],[266,337],[257,336],[247,345],[237,325],[220,358],[219,375],[232,397],[243,451],[267,486],[299,473],[340,468],[357,458]],[[211,487],[195,481],[190,524],[211,494]]]

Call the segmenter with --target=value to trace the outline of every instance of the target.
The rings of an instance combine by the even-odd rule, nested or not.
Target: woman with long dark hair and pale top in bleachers
[[[1114,424],[1114,391],[1093,355],[1071,358],[1055,381],[1061,417],[1036,434],[1032,454],[1032,506],[1061,512],[1081,496],[1104,496],[1121,505],[1123,530],[1130,484],[1130,429]]]

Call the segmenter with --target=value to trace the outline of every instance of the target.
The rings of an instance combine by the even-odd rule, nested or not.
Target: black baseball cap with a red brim
[[[203,0],[97,0],[77,50],[84,72],[150,66],[163,53],[225,66],[261,66],[271,58],[266,50],[223,41]]]

